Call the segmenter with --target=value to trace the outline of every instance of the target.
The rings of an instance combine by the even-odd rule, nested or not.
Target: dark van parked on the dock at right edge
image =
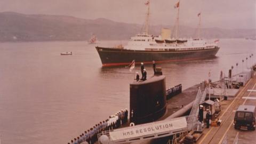
[[[247,129],[255,130],[255,119],[256,119],[256,107],[249,105],[241,105],[237,108],[235,118],[234,118],[234,127],[235,129]]]

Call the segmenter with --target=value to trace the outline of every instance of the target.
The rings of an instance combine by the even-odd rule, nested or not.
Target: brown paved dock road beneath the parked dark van
[[[247,90],[256,90],[256,76],[238,92],[234,100],[223,103],[223,110],[220,115],[221,126],[204,130],[203,137],[197,143],[222,143],[225,134],[227,134],[228,143],[233,143],[238,132],[238,143],[255,143],[256,131],[235,130],[233,125],[235,110],[239,105],[256,106],[256,99],[244,99],[244,97],[256,98],[256,92]]]

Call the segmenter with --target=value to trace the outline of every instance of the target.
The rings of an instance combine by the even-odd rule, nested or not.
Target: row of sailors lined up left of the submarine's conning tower
[[[90,130],[84,131],[79,137],[74,138],[68,142],[68,144],[79,144],[82,142],[87,142],[93,144],[98,141],[98,134],[103,131],[110,131],[117,129],[118,127],[124,125],[128,122],[128,110],[118,111],[115,115],[109,116],[109,119],[102,121],[99,124],[95,124]]]

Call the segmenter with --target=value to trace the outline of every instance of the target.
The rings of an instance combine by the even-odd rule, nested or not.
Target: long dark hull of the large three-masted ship
[[[219,49],[219,47],[215,47],[214,49],[203,50],[175,51],[163,49],[163,51],[143,51],[96,47],[103,67],[129,65],[133,60],[135,60],[136,63],[152,63],[153,60],[160,63],[206,59],[215,57]]]

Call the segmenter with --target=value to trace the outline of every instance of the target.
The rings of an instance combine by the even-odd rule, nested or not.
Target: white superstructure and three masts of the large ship
[[[198,13],[199,24],[198,24],[198,37],[196,39],[190,38],[179,38],[179,9],[180,1],[175,4],[177,9],[177,18],[175,22],[175,30],[163,28],[160,36],[153,36],[148,34],[148,22],[149,22],[149,1],[145,3],[148,6],[146,14],[146,23],[143,34],[138,34],[130,38],[130,41],[124,46],[124,49],[129,50],[163,50],[163,49],[175,49],[175,50],[198,50],[198,49],[214,49],[217,46],[218,40],[216,41],[205,41],[199,38],[200,27],[201,27],[201,12]],[[171,32],[175,34],[175,38],[171,38]]]

